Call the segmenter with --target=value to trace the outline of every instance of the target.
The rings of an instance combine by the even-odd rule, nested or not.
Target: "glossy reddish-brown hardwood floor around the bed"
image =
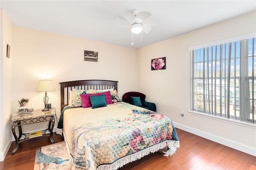
[[[256,157],[212,142],[205,138],[177,129],[180,148],[172,156],[163,156],[160,150],[127,164],[120,170],[256,170]],[[54,134],[55,142],[64,138]],[[4,161],[0,162],[1,170],[33,170],[36,148],[51,144],[48,137],[38,137],[19,144],[15,154],[11,154],[14,142]]]

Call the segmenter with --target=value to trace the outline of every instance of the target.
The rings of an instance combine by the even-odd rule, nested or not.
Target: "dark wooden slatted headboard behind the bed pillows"
[[[115,89],[117,91],[118,81],[110,80],[78,80],[78,81],[67,81],[60,83],[60,109],[68,105],[69,102],[69,91],[72,89],[88,90],[104,90],[104,89]]]

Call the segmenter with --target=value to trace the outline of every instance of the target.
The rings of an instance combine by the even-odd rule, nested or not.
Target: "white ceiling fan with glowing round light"
[[[133,34],[140,34],[142,31],[148,34],[151,30],[151,26],[147,25],[144,21],[151,16],[151,13],[147,11],[134,10],[133,15],[135,16],[135,19],[132,21],[123,15],[119,15],[119,18],[130,24]]]

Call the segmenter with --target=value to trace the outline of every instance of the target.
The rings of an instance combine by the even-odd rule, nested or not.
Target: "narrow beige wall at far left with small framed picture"
[[[12,24],[0,8],[1,47],[0,47],[0,160],[6,155],[12,138],[11,122],[11,85],[12,85]],[[6,57],[7,44],[10,45],[10,58]]]

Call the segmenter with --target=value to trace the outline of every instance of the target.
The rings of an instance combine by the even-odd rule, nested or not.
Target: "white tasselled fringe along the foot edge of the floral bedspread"
[[[98,166],[97,170],[117,170],[118,168],[121,168],[122,166],[130,162],[138,160],[150,153],[154,153],[160,149],[163,149],[166,146],[168,146],[169,149],[167,150],[167,152],[164,152],[165,153],[164,156],[171,156],[172,154],[175,153],[176,148],[180,147],[180,142],[174,141],[174,140],[167,140],[167,141],[155,144],[153,146],[140,150],[136,153],[130,154],[128,156],[124,156],[116,160],[112,164],[102,164]]]

